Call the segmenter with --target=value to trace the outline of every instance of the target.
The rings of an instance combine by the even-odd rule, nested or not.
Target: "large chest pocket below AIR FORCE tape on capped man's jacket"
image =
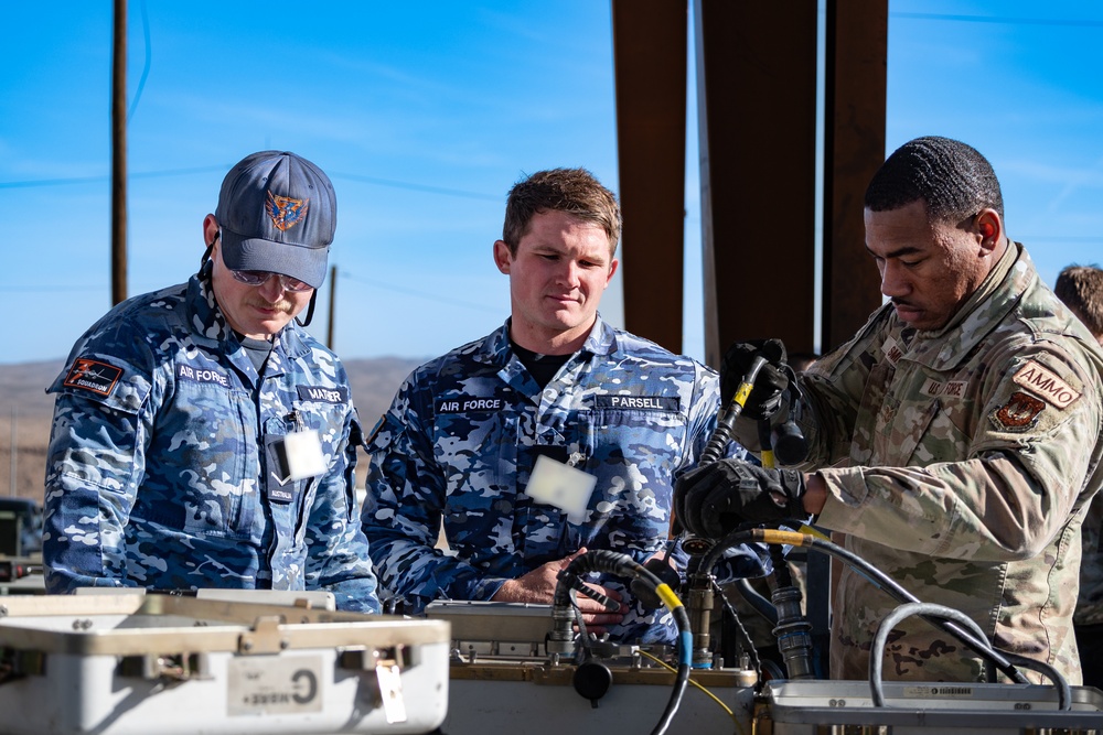
[[[199,534],[248,538],[259,467],[251,399],[244,390],[181,380],[153,428],[133,515]]]

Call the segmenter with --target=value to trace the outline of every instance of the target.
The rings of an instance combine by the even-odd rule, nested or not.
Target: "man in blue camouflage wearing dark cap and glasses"
[[[378,612],[347,376],[293,321],[335,225],[320,169],[254,153],[203,221],[200,272],[77,341],[49,389],[49,592],[321,590]]]

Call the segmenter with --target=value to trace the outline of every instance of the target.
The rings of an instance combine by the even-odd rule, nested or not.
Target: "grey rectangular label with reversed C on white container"
[[[320,656],[237,656],[229,660],[229,715],[322,711]]]

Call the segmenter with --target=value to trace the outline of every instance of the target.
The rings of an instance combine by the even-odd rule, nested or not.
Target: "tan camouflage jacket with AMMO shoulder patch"
[[[804,380],[804,468],[828,486],[817,522],[920,601],[967,614],[996,648],[1079,684],[1072,612],[1081,522],[1103,483],[1101,375],[1099,345],[1019,245],[938,332],[884,306]],[[833,598],[832,678],[865,679],[898,603],[850,568]],[[978,657],[914,617],[885,657],[886,679],[983,677]]]

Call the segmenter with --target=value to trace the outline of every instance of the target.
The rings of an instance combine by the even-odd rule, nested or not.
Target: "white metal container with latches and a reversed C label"
[[[173,595],[0,597],[10,735],[427,733],[449,626]]]

